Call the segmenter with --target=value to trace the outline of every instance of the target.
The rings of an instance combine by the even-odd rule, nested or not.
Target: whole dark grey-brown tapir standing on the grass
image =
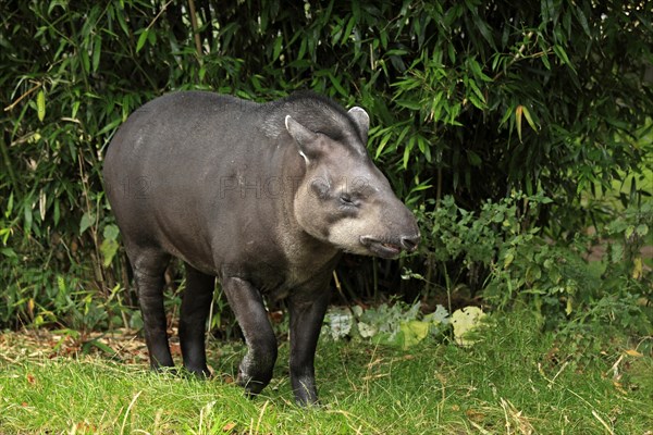
[[[412,213],[372,163],[369,116],[312,92],[255,103],[202,91],[134,112],[107,151],[107,195],[134,271],[153,369],[173,366],[163,308],[171,258],[185,263],[184,366],[208,376],[205,330],[215,278],[243,330],[238,384],[272,377],[276,338],[263,298],[287,298],[289,373],[300,405],[318,399],[313,359],[342,252],[412,251]]]

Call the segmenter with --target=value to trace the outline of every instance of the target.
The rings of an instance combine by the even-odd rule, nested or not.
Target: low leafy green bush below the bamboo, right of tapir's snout
[[[430,269],[440,268],[446,277],[444,290],[451,294],[472,281],[463,272],[485,269],[483,301],[494,308],[532,307],[547,327],[570,320],[650,333],[653,271],[643,264],[641,248],[653,222],[652,206],[627,209],[607,225],[607,254],[588,261],[590,248],[605,243],[600,236],[577,235],[567,244],[544,238],[541,228],[528,225],[537,209],[550,202],[543,196],[514,194],[497,203],[485,202],[475,213],[445,197],[439,208],[422,209],[427,276]],[[458,272],[453,276],[452,263]],[[433,285],[421,274],[409,272],[407,277]]]

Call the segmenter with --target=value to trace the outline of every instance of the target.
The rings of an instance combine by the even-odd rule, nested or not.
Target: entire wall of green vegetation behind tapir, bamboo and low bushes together
[[[1,4],[0,326],[138,324],[100,177],[134,109],[310,88],[368,110],[370,153],[424,236],[402,262],[346,259],[341,295],[519,300],[552,327],[650,332],[649,2]]]

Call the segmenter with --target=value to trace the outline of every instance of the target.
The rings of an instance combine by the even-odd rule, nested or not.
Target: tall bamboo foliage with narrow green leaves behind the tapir
[[[81,268],[101,291],[121,279],[119,257],[102,266],[103,235],[118,237],[106,231],[103,150],[132,111],[170,90],[269,100],[310,88],[362,105],[370,153],[410,206],[451,194],[475,209],[542,190],[556,213],[540,220],[557,228],[584,225],[580,192],[640,172],[651,153],[648,2],[5,0],[2,10],[0,258],[22,295],[11,303],[46,291],[15,284],[23,261]],[[625,200],[645,188],[633,183]]]

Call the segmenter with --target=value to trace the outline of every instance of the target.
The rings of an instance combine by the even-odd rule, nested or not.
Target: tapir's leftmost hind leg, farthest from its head
[[[134,252],[136,251],[136,252]],[[163,285],[165,268],[170,256],[157,249],[127,249],[134,281],[138,288],[138,302],[143,313],[145,341],[149,350],[152,369],[173,366],[168,346],[168,322],[163,307]]]

